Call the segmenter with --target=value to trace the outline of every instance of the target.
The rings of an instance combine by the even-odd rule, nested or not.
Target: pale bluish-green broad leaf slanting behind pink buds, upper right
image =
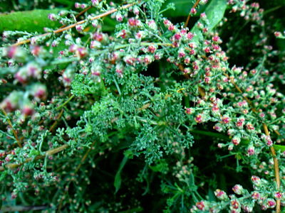
[[[217,26],[217,23],[222,20],[224,17],[224,11],[227,9],[227,0],[212,0],[207,8],[205,9],[204,13],[206,13],[206,16],[209,20],[209,25],[207,26],[209,28],[209,31],[212,31],[212,29]],[[202,21],[201,21],[202,22]],[[199,31],[197,27],[197,23],[192,28],[192,33],[196,33],[197,36],[193,38],[193,40],[202,40],[203,35],[201,31]]]

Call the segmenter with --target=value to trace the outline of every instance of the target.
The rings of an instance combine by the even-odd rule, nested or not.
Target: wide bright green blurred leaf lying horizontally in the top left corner
[[[49,13],[58,13],[62,9],[33,10],[14,12],[0,15],[0,32],[3,31],[28,31],[43,33],[43,28],[55,28],[60,23],[48,19]]]

